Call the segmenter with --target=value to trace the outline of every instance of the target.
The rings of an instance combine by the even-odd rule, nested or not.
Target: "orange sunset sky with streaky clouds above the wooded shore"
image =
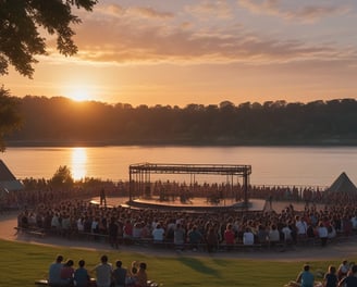
[[[356,0],[100,0],[74,11],[79,52],[48,39],[13,96],[108,103],[219,104],[357,98]]]

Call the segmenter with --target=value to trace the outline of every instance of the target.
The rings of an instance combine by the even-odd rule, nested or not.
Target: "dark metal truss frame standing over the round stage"
[[[244,200],[248,201],[247,188],[251,165],[234,164],[167,164],[167,163],[138,163],[130,165],[130,200],[136,194],[136,189],[143,189],[150,183],[151,174],[208,174],[208,175],[226,175],[243,177]],[[135,185],[134,183],[137,183]]]

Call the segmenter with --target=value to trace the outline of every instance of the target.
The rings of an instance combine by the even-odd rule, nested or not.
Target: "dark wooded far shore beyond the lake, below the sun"
[[[356,145],[357,101],[188,104],[20,99],[24,124],[14,145]]]

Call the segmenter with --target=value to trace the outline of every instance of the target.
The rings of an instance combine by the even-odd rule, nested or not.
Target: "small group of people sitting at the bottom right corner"
[[[311,272],[310,265],[305,264],[303,271],[297,275],[296,280],[290,282],[288,287],[356,287],[357,286],[357,264],[355,262],[343,262],[336,267],[329,265],[328,271],[321,276],[321,282],[317,282],[317,276]]]

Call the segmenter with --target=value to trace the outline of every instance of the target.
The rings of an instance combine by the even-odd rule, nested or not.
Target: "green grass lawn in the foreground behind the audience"
[[[86,267],[91,270],[98,262],[102,251],[69,249],[64,247],[44,247],[0,240],[0,286],[34,286],[36,279],[47,277],[49,264],[57,254],[75,261],[84,259]],[[143,251],[143,249],[140,249]],[[119,251],[106,252],[111,263],[120,259],[125,266],[134,260],[148,264],[149,279],[163,286],[244,286],[244,287],[281,287],[294,279],[306,262],[275,262],[242,259],[223,259],[219,255],[208,257],[152,257],[143,253]],[[325,271],[335,261],[309,262],[313,271]],[[94,275],[91,273],[91,275]]]

